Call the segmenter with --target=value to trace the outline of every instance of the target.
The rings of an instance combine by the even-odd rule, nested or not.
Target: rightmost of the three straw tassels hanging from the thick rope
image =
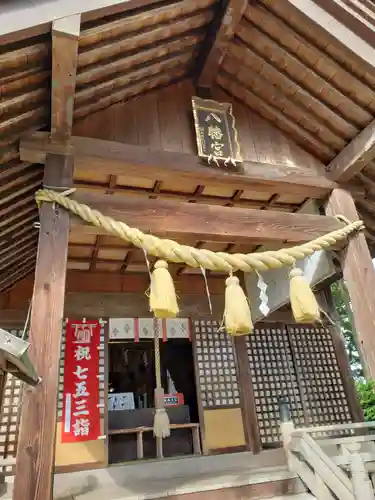
[[[296,323],[316,323],[320,320],[320,309],[314,292],[298,267],[289,273],[290,305]]]

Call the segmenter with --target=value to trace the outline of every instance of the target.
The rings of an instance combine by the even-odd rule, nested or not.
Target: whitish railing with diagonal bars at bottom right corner
[[[281,426],[288,466],[317,500],[375,500],[375,422]]]

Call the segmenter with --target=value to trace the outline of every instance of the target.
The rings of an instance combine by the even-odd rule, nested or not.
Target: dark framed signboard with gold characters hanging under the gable
[[[218,166],[242,162],[232,105],[200,97],[192,104],[198,155]]]

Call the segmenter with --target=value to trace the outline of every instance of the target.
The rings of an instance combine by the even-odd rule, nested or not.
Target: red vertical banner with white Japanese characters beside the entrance
[[[99,347],[99,321],[67,322],[63,443],[93,441],[100,436]]]

